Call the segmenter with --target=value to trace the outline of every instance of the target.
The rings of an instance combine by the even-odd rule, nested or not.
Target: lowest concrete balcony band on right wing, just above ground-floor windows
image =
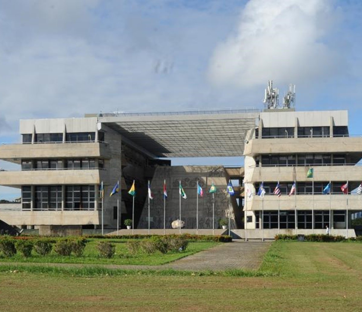
[[[362,211],[361,205],[362,195],[348,195],[348,209]],[[298,210],[329,210],[347,209],[347,195],[265,195],[263,199],[254,195],[251,199],[247,199],[247,210],[294,210],[295,206]],[[245,207],[244,207],[245,210]]]

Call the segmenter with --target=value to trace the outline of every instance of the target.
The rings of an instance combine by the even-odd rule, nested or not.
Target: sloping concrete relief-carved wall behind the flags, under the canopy
[[[152,179],[151,190],[154,199],[150,201],[151,228],[163,228],[164,201],[163,182],[166,179],[166,228],[171,228],[171,222],[180,214],[179,181],[181,180],[187,199],[181,198],[181,220],[185,221],[186,229],[196,228],[197,180],[204,191],[204,197],[198,200],[199,229],[212,229],[212,194],[209,194],[214,181],[218,191],[215,193],[214,221],[215,229],[219,227],[219,219],[227,217],[230,199],[226,192],[227,181],[222,166],[175,166],[158,167]],[[232,221],[232,227],[235,222]],[[146,201],[138,228],[148,228],[148,203]]]

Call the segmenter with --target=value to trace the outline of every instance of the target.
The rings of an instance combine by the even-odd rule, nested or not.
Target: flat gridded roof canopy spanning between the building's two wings
[[[119,113],[99,121],[156,157],[242,156],[259,112]]]

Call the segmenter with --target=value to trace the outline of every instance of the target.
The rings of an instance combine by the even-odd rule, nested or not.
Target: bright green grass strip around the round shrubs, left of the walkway
[[[0,256],[0,262],[35,262],[35,263],[84,263],[84,264],[114,264],[114,265],[162,265],[164,263],[175,261],[186,257],[188,255],[197,253],[201,250],[209,249],[220,243],[216,242],[190,242],[185,251],[176,253],[161,254],[159,252],[155,254],[139,253],[131,255],[128,253],[126,247],[127,240],[115,240],[115,239],[102,239],[101,241],[109,241],[115,245],[115,255],[110,259],[100,258],[97,251],[97,243],[99,239],[89,239],[89,242],[85,246],[84,254],[81,257],[71,255],[69,257],[59,256],[52,250],[48,256],[38,255],[34,250],[32,251],[32,257],[24,258],[20,253],[14,255],[14,257],[6,258]]]

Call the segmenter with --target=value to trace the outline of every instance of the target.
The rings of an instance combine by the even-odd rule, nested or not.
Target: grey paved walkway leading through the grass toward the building
[[[181,258],[174,262],[158,266],[147,265],[96,265],[109,269],[124,270],[187,270],[187,271],[223,271],[227,269],[257,270],[262,258],[268,251],[271,242],[233,240],[231,243],[223,243],[208,250],[200,251],[194,255]],[[79,263],[9,263],[0,265],[41,265],[59,267],[85,267],[94,266]]]

